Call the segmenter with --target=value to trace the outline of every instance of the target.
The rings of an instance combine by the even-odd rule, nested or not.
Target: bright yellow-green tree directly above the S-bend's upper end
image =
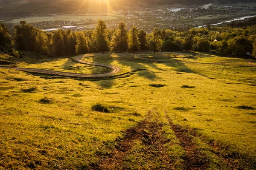
[[[76,54],[86,54],[89,51],[86,37],[82,31],[76,32]]]

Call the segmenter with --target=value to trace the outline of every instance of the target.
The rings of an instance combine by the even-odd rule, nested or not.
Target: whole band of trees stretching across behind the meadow
[[[48,56],[86,54],[105,51],[215,51],[220,54],[251,55],[256,57],[256,25],[243,28],[211,27],[174,31],[154,28],[151,33],[125,22],[108,29],[98,20],[95,30],[71,31],[58,29],[51,33],[35,28],[26,21],[14,26],[9,35],[6,25],[0,23],[0,50],[20,57],[19,51],[35,51]]]

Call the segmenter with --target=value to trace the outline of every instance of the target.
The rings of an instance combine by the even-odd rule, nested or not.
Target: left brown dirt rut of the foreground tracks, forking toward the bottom
[[[131,127],[125,131],[124,138],[117,144],[117,146],[111,150],[111,154],[99,163],[98,170],[125,170],[128,169],[127,156],[132,152],[134,142],[140,140],[145,145],[143,154],[146,156],[153,155],[154,160],[158,162],[157,167],[152,169],[158,170],[171,170],[171,160],[166,152],[164,144],[168,142],[168,139],[161,135],[163,124],[157,124],[157,122],[150,120],[150,111],[147,118],[139,122],[136,126]],[[154,162],[152,159],[146,161]],[[160,164],[159,164],[160,163]],[[148,164],[148,162],[147,162]]]

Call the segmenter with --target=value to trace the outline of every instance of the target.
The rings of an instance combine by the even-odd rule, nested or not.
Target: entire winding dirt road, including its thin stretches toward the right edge
[[[183,55],[180,53],[172,53],[172,54]],[[124,74],[118,75],[118,73],[121,71],[121,68],[114,65],[107,65],[107,64],[88,62],[88,61],[82,60],[82,58],[84,57],[93,57],[93,56],[94,55],[91,55],[91,54],[79,55],[74,58],[71,58],[71,60],[73,60],[74,62],[78,62],[80,64],[88,64],[88,65],[105,67],[105,68],[108,68],[107,72],[97,73],[97,74],[80,74],[80,73],[44,70],[44,69],[38,69],[38,68],[21,68],[21,67],[11,67],[11,66],[1,66],[1,65],[0,65],[0,68],[15,69],[15,70],[26,71],[26,72],[35,73],[35,74],[46,74],[50,76],[72,77],[72,78],[111,78],[111,77],[118,77],[124,74],[128,74],[128,73],[124,73]],[[161,60],[161,59],[149,59],[144,57],[133,57],[133,56],[129,56],[129,57],[132,57],[135,59],[144,59],[144,60],[153,61],[153,62],[195,63],[195,64],[209,64],[209,65],[224,64],[224,63],[204,63],[204,62],[190,62],[190,61],[168,61],[168,60]],[[253,63],[253,62],[247,62],[247,63],[251,65],[256,65],[256,63]]]

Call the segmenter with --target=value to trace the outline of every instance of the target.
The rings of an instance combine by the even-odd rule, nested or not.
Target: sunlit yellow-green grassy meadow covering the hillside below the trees
[[[68,57],[0,59],[65,72],[104,69]],[[256,168],[253,60],[195,51],[84,60],[140,71],[88,80],[0,68],[0,169]],[[109,113],[93,111],[95,104]]]

